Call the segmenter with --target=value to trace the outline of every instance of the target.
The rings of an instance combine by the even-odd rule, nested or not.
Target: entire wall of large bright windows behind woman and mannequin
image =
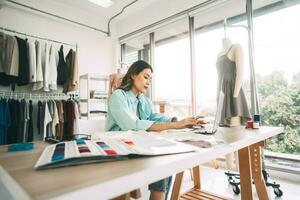
[[[221,12],[214,7],[194,15],[197,114],[213,116],[215,113],[216,59],[224,38],[222,20],[227,17],[231,19],[230,24],[246,25],[243,13],[246,2],[228,2],[221,7],[233,7],[235,10],[223,7]],[[232,6],[238,2],[238,6]],[[299,155],[300,5],[295,1],[280,1],[268,6],[265,5],[267,2],[255,3],[254,68],[262,124],[285,128],[284,134],[269,140],[267,148],[274,152]],[[242,28],[228,28],[226,34],[233,43],[239,43],[243,48],[244,91],[250,109],[247,32]],[[153,100],[167,101],[168,115],[190,115],[191,74],[187,19],[169,24],[155,32],[154,61]]]

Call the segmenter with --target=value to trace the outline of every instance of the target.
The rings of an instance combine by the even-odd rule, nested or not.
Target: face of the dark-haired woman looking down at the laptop
[[[144,69],[137,75],[133,75],[133,92],[135,93],[144,93],[147,91],[147,89],[150,87],[151,79],[152,79],[152,71],[151,69]]]

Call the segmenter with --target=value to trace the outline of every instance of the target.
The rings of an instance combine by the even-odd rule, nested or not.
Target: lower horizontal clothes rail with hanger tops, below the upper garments
[[[0,98],[11,98],[11,99],[76,99],[79,98],[78,94],[63,94],[63,93],[28,93],[28,92],[10,92],[0,91]]]

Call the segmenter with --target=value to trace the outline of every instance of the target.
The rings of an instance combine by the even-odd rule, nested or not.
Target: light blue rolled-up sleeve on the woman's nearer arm
[[[124,131],[127,130],[148,130],[154,121],[140,120],[132,112],[122,92],[115,92],[109,99],[109,110],[116,124]]]

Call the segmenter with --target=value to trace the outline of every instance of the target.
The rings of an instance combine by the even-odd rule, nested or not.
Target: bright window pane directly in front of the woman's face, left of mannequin
[[[155,32],[154,100],[167,102],[166,114],[190,115],[191,81],[187,18]]]

